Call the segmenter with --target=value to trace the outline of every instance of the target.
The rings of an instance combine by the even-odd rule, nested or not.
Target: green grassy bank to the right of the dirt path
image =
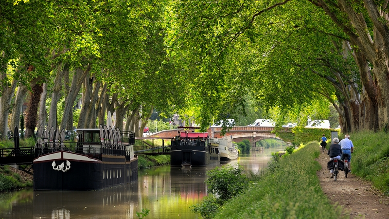
[[[389,135],[363,131],[350,136],[354,144],[350,162],[353,174],[370,180],[389,195]]]

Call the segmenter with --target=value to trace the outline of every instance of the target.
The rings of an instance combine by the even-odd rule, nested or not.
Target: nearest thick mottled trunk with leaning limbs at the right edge
[[[373,65],[371,73],[375,77],[376,81],[376,97],[377,97],[377,109],[378,115],[375,113],[375,95],[367,96],[367,101],[373,101],[371,103],[366,102],[363,106],[364,110],[370,110],[373,108],[373,113],[365,111],[364,116],[370,115],[373,118],[365,118],[364,121],[369,121],[372,124],[373,129],[376,127],[376,121],[378,120],[378,129],[383,128],[389,124],[389,70],[388,70],[388,55],[389,55],[389,27],[386,22],[389,17],[386,13],[387,4],[378,5],[374,1],[361,2],[363,7],[368,13],[363,11],[356,11],[353,1],[337,0],[334,4],[332,1],[318,0],[311,1],[315,5],[324,9],[326,14],[343,30],[345,34],[350,37],[350,42],[356,45],[358,50],[366,57],[367,60]],[[336,7],[334,7],[336,5]],[[385,8],[381,8],[385,7]],[[342,19],[339,19],[343,17]],[[344,16],[347,16],[347,22],[344,22]],[[365,20],[369,20],[373,24],[373,37],[371,37],[370,28],[367,28]],[[366,76],[366,75],[365,75]],[[361,75],[362,80],[365,80]],[[364,84],[365,86],[366,84]],[[372,87],[366,86],[366,91],[372,91]],[[377,115],[377,116],[376,116]],[[371,120],[374,120],[371,121]],[[369,125],[368,127],[371,127]]]

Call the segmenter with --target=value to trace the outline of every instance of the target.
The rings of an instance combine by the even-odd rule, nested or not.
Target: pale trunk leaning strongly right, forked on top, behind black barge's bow
[[[65,125],[68,123],[70,113],[73,110],[74,101],[78,95],[78,91],[80,91],[84,78],[88,75],[89,71],[90,64],[88,64],[85,71],[83,71],[81,68],[76,68],[73,79],[71,81],[69,93],[65,101],[64,117],[62,118],[61,127],[65,127]]]

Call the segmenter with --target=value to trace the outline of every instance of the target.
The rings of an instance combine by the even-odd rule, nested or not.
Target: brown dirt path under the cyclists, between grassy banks
[[[317,172],[323,192],[331,200],[338,202],[343,207],[343,215],[349,215],[351,219],[389,219],[389,197],[372,187],[371,183],[354,174],[348,174],[345,178],[343,171],[339,171],[336,182],[331,179],[331,173],[327,169],[330,160],[327,151],[322,152],[317,159],[321,164],[321,170]],[[353,161],[351,161],[353,170]]]

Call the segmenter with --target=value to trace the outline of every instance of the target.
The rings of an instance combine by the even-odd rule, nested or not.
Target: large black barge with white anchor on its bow
[[[135,133],[110,126],[77,129],[73,145],[36,148],[34,190],[98,190],[138,180]],[[51,143],[53,144],[53,143]]]

